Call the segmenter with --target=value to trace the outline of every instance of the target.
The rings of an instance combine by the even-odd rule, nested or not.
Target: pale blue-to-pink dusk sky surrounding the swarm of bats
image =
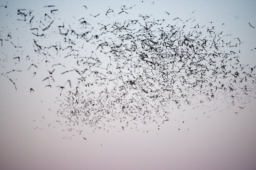
[[[1,0],[0,5],[5,5],[6,2]],[[0,8],[0,38],[6,38],[7,33],[11,32],[12,40],[17,42],[15,40],[19,38],[23,46],[23,60],[26,55],[36,58],[31,44],[25,44],[27,40],[30,42],[33,39],[33,35],[26,32],[30,25],[17,21],[17,9],[22,8],[32,9],[37,15],[44,14],[43,6],[55,5],[59,9],[55,16],[56,25],[61,25],[63,20],[65,23],[72,23],[81,17],[88,18],[89,23],[108,22],[110,19],[104,15],[109,6],[119,10],[121,5],[136,5],[129,14],[116,15],[118,21],[138,18],[139,14],[152,14],[154,18],[165,18],[166,23],[175,24],[172,19],[189,19],[194,11],[193,16],[200,25],[213,22],[218,31],[232,34],[232,38],[239,38],[244,42],[240,47],[240,62],[252,67],[256,65],[256,50],[251,51],[256,47],[256,29],[249,25],[250,22],[256,26],[256,1],[152,2],[10,0],[7,8]],[[89,16],[98,13],[101,15],[97,18]],[[54,36],[55,34],[50,35],[45,43],[58,39]],[[86,46],[85,54],[90,54],[92,48],[94,47]],[[0,74],[14,67],[12,55],[15,50],[17,49],[10,43],[3,42],[0,47]],[[15,54],[18,53],[20,51]],[[35,62],[40,59],[36,58]],[[30,64],[23,60],[15,65],[17,70],[29,68]],[[66,64],[69,65],[69,61]],[[110,128],[109,132],[102,129],[93,131],[93,128],[84,126],[70,132],[57,123],[61,119],[56,115],[59,110],[59,101],[56,99],[59,91],[56,88],[44,88],[42,77],[48,73],[45,68],[39,68],[38,75],[33,79],[30,71],[13,73],[17,78],[17,90],[8,78],[0,76],[0,169],[256,168],[254,97],[246,100],[243,109],[228,107],[223,102],[229,100],[225,96],[219,96],[217,101],[206,103],[202,108],[186,105],[177,108],[173,105],[170,107],[171,120],[162,124],[160,130],[156,124],[151,123],[140,126],[139,131],[127,128],[118,132],[120,129],[117,127]],[[58,81],[65,83],[61,77]],[[34,88],[34,93],[29,93],[31,87]],[[81,135],[76,132],[78,129],[83,129]],[[149,132],[143,132],[144,130]]]

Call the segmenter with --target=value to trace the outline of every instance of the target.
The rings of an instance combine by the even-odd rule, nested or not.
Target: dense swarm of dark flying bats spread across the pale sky
[[[172,19],[174,24],[143,14],[116,20],[129,17],[133,7],[73,17],[73,23],[58,18],[54,5],[44,6],[44,14],[18,9],[17,22],[26,26],[19,29],[30,31],[31,44],[25,46],[34,56],[21,54],[23,45],[11,33],[1,32],[0,48],[8,43],[18,49],[19,54],[8,58],[16,65],[24,60],[31,78],[39,76],[40,67],[45,70],[42,83],[60,92],[57,115],[69,127],[87,124],[107,130],[105,124],[114,121],[121,131],[138,123],[159,127],[170,119],[170,103],[198,107],[220,95],[234,105],[235,98],[255,94],[255,66],[239,62],[239,38],[218,32],[212,22],[196,23],[194,11],[187,20]],[[102,15],[107,20],[95,23]],[[17,90],[12,73],[23,70],[8,69],[2,75]]]

